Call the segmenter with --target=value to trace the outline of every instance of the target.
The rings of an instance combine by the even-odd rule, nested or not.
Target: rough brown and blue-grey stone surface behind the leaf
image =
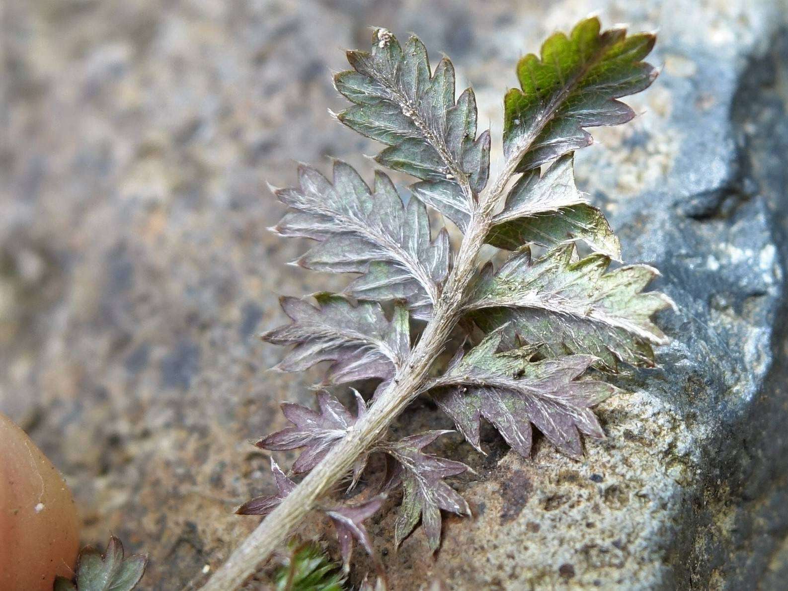
[[[374,147],[325,112],[340,48],[371,24],[417,32],[500,138],[516,59],[592,9],[660,31],[644,115],[577,168],[678,304],[662,369],[621,380],[582,462],[541,444],[525,461],[492,429],[486,457],[448,438],[478,472],[456,481],[474,518],[447,517],[434,558],[420,531],[394,552],[393,511],[370,530],[393,589],[784,588],[783,2],[6,2],[0,411],[65,473],[85,541],[120,535],[151,555],[145,587],[177,589],[254,527],[229,513],[273,489],[247,440],[318,375],[266,373],[281,352],[254,335],[282,322],[277,293],[342,284],[284,266],[300,247],[266,232],[265,181],[326,155],[371,177]],[[425,403],[402,424],[449,426]]]

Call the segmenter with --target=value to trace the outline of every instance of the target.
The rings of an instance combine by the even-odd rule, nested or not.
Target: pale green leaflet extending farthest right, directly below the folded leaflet
[[[469,297],[471,317],[485,332],[502,327],[508,348],[529,343],[541,344],[551,357],[594,355],[611,370],[619,362],[652,366],[652,345],[666,344],[667,337],[651,317],[672,305],[661,293],[642,291],[656,269],[607,272],[604,255],[576,258],[574,245],[536,261],[522,247],[496,273],[488,266]]]

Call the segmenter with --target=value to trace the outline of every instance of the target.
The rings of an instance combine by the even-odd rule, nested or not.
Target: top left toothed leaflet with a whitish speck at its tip
[[[424,180],[414,192],[462,227],[489,173],[490,136],[476,137],[474,92],[467,89],[455,102],[452,62],[444,58],[430,73],[418,38],[400,46],[381,28],[373,41],[371,52],[348,51],[354,69],[334,77],[336,89],[354,103],[337,117],[388,145],[377,162]],[[437,188],[440,199],[431,196]]]

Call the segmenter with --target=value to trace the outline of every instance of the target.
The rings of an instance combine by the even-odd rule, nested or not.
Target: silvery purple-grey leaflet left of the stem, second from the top
[[[293,211],[273,229],[282,236],[318,240],[297,263],[307,269],[363,273],[345,292],[358,299],[406,299],[420,318],[429,318],[448,274],[445,229],[433,241],[426,207],[407,205],[384,174],[374,190],[350,165],[335,162],[333,183],[307,165],[299,166],[299,187],[274,191]]]

